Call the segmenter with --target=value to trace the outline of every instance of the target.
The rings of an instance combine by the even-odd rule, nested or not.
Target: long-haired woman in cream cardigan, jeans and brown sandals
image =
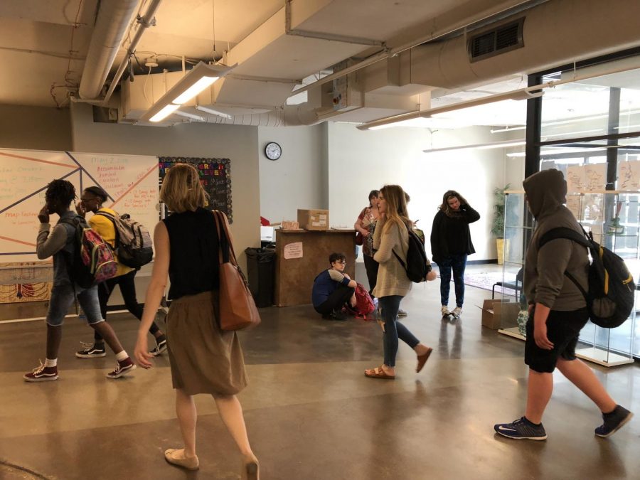
[[[398,322],[400,301],[411,289],[411,280],[393,252],[403,261],[407,260],[409,232],[412,222],[407,213],[405,192],[398,185],[386,185],[378,196],[380,217],[373,234],[373,247],[378,250],[373,259],[380,264],[378,282],[373,294],[378,297],[384,325],[384,363],[365,370],[370,378],[395,378],[395,355],[398,353],[398,338],[414,349],[417,355],[416,372],[420,372],[431,355],[432,348],[422,345],[420,340]]]

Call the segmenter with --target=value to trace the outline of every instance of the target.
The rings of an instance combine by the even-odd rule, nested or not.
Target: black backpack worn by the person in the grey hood
[[[572,274],[565,272],[565,275],[585,296],[591,321],[605,329],[614,329],[629,318],[634,308],[636,285],[622,258],[595,242],[592,233],[585,232],[584,228],[582,232],[585,235],[571,228],[553,228],[540,238],[539,248],[551,240],[567,238],[589,249],[589,291],[585,292]]]

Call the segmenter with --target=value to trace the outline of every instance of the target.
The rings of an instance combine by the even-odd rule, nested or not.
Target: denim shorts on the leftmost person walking
[[[47,324],[50,326],[60,326],[65,321],[65,315],[68,314],[73,301],[78,299],[78,303],[82,307],[82,311],[87,316],[87,323],[97,324],[102,319],[100,314],[100,302],[97,298],[97,286],[89,289],[83,289],[72,284],[54,285],[51,289],[51,299],[49,300],[49,309],[47,311]]]

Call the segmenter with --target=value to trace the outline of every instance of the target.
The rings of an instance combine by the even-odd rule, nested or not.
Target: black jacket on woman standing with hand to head
[[[471,242],[469,223],[480,220],[480,214],[468,205],[462,205],[459,211],[462,215],[449,217],[439,210],[433,219],[431,255],[436,263],[449,255],[476,252]]]

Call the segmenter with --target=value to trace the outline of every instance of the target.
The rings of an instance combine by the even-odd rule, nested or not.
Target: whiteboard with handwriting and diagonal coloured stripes
[[[156,156],[0,149],[0,263],[38,260],[38,212],[55,178],[73,183],[78,197],[83,188],[102,187],[105,207],[129,213],[151,232],[158,223]],[[57,221],[53,215],[51,223]]]

